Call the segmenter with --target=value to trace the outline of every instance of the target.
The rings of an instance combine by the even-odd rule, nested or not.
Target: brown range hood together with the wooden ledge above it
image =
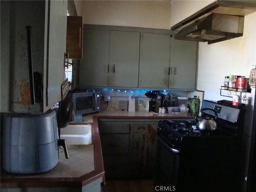
[[[208,44],[243,35],[244,16],[256,11],[255,0],[216,0],[171,27],[174,38]]]

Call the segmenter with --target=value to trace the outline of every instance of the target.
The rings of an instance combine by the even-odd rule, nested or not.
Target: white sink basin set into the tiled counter
[[[68,125],[61,128],[60,139],[65,139],[67,145],[92,144],[92,125]]]

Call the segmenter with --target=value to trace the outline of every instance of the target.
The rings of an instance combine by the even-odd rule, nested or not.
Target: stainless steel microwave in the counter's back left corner
[[[75,114],[91,114],[100,111],[100,92],[74,90],[73,110]]]

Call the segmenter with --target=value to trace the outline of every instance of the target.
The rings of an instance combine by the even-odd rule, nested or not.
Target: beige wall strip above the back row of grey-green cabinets
[[[170,1],[82,1],[84,24],[170,29]]]

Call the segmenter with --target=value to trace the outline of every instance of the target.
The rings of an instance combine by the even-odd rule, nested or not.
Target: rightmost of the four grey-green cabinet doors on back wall
[[[172,37],[169,88],[195,90],[197,42]]]

